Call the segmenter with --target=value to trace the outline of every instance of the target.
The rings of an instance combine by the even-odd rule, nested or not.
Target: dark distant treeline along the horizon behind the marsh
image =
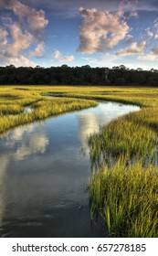
[[[124,65],[91,68],[89,65],[61,67],[0,67],[0,84],[11,85],[142,85],[158,86],[158,70],[127,69]]]

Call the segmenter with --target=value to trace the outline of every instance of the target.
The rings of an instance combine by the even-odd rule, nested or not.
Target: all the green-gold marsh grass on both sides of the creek
[[[59,97],[42,96],[47,94]],[[130,103],[141,110],[90,136],[90,159],[97,168],[90,181],[91,216],[103,218],[113,237],[157,237],[158,89],[2,86],[0,133],[19,124],[96,106],[97,101]],[[28,105],[32,112],[24,113]]]

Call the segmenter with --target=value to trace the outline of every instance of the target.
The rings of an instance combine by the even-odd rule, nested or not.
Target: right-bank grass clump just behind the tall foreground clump
[[[153,163],[158,150],[157,133],[134,114],[112,121],[100,133],[90,136],[90,158],[92,164],[111,164],[120,156],[127,162]]]

